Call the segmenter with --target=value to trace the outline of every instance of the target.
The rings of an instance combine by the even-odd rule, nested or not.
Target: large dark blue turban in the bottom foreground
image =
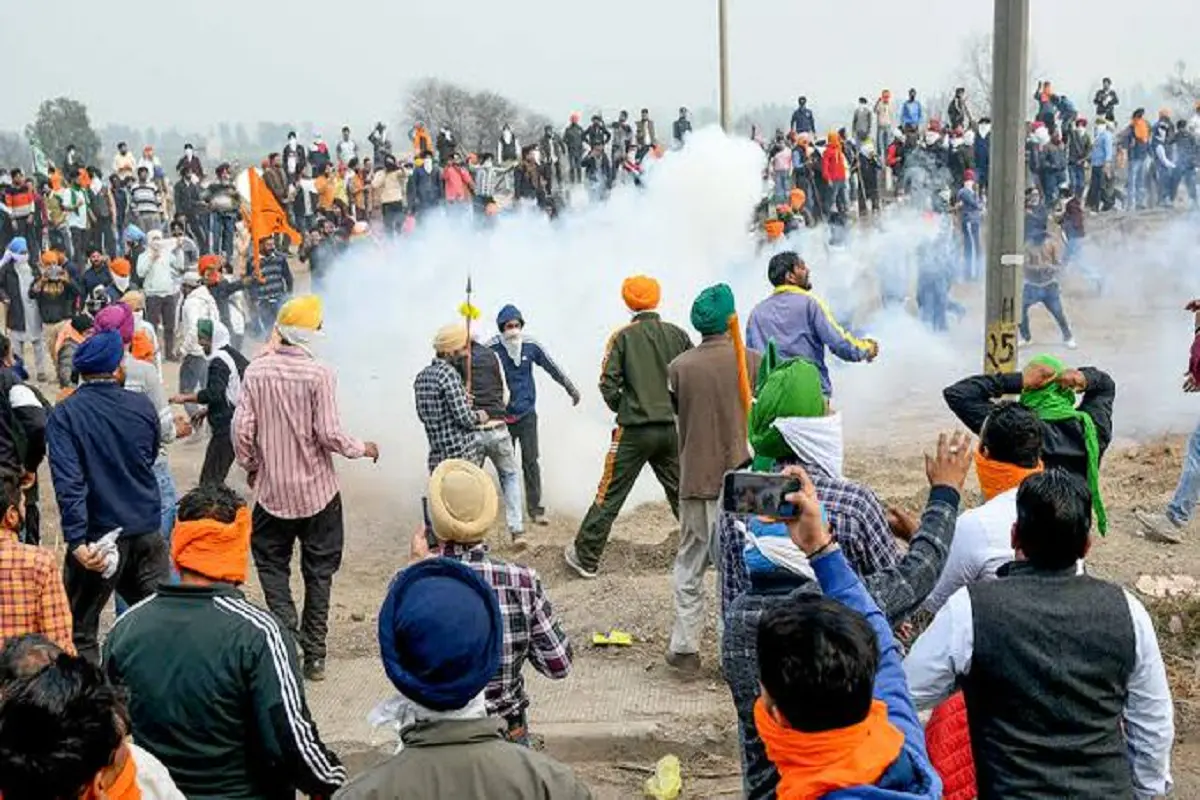
[[[470,703],[500,668],[504,619],[474,570],[438,558],[406,567],[379,609],[379,655],[401,694],[434,711]]]

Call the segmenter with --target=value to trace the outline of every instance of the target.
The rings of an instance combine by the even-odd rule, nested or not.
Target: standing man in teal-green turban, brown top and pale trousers
[[[733,290],[708,287],[691,306],[700,345],[676,356],[667,386],[679,429],[679,551],[674,563],[676,622],[667,663],[700,668],[704,632],[704,572],[716,553],[718,497],[725,473],[750,458],[746,415],[738,385]],[[746,353],[746,374],[758,368],[758,354]]]

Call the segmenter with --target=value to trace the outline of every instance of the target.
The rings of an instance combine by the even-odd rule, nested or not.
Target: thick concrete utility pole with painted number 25
[[[994,0],[988,321],[983,368],[1016,372],[1016,300],[1025,264],[1025,94],[1030,0]]]

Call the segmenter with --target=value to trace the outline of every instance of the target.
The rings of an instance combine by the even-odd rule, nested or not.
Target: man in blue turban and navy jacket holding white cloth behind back
[[[46,425],[50,475],[67,546],[62,579],[79,655],[100,662],[100,612],[113,590],[136,603],[167,579],[167,542],[154,463],[158,414],[145,395],[126,391],[116,331],[76,349],[79,387]]]

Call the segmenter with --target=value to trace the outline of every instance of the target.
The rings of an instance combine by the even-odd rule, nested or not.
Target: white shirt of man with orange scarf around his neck
[[[955,591],[984,578],[1013,560],[1013,523],[1016,522],[1016,489],[997,494],[971,509],[954,525],[954,540],[937,585],[922,606],[936,614]]]

